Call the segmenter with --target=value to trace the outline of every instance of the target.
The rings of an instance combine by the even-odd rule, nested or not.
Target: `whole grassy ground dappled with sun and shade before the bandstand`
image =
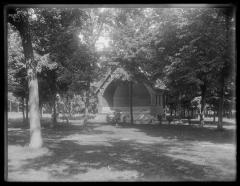
[[[9,181],[234,181],[235,124],[123,125],[91,120],[49,128],[31,150],[29,129],[8,122]]]

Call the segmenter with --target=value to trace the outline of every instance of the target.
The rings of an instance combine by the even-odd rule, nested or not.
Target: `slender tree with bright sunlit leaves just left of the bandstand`
[[[85,24],[83,25],[83,29],[80,34],[81,42],[87,47],[88,55],[90,60],[88,61],[88,68],[84,73],[84,78],[82,80],[85,81],[85,92],[84,92],[84,103],[85,103],[85,111],[84,111],[84,124],[87,123],[88,120],[88,112],[89,112],[89,98],[91,95],[91,82],[97,80],[101,75],[101,71],[97,62],[99,62],[99,53],[96,49],[96,44],[98,39],[100,38],[103,31],[106,31],[109,23],[111,21],[110,10],[101,11],[101,9],[85,9],[87,19]]]

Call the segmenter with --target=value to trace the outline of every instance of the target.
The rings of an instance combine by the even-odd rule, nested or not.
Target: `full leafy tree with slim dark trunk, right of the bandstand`
[[[201,93],[200,124],[203,126],[207,95],[211,87],[219,84],[216,82],[219,72],[226,66],[225,58],[231,56],[226,50],[229,43],[219,9],[190,9],[184,11],[183,17],[187,24],[179,29],[177,36],[181,47],[173,55],[168,70],[169,74],[176,74],[176,81],[184,80],[180,85],[193,83],[197,86]]]

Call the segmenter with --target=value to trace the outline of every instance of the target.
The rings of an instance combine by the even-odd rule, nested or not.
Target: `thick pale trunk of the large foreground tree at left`
[[[19,10],[13,9],[14,16],[10,16],[8,21],[13,24],[20,33],[23,52],[27,67],[28,87],[29,87],[29,121],[30,121],[30,143],[31,148],[40,148],[42,146],[41,124],[39,117],[39,95],[37,80],[37,64],[34,61],[32,40],[29,26],[29,14],[27,8]],[[17,19],[16,19],[17,17]]]

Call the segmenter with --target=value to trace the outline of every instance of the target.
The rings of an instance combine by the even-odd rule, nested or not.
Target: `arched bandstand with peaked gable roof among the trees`
[[[129,119],[130,94],[129,82],[120,76],[130,76],[123,68],[117,65],[106,74],[97,86],[98,113],[109,114],[121,112]],[[137,79],[137,78],[135,78]],[[158,87],[148,81],[137,79],[133,81],[132,105],[134,121],[150,122],[156,119],[157,114],[163,114],[166,106],[166,88],[158,82]],[[142,121],[141,121],[142,120]]]

